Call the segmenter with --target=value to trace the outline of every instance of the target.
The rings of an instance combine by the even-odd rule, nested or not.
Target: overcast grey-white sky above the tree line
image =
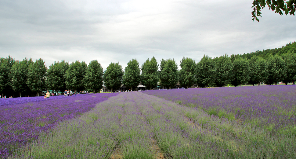
[[[244,54],[296,41],[296,16],[265,8],[252,22],[252,0],[1,0],[0,57],[97,59],[123,69],[155,56]]]

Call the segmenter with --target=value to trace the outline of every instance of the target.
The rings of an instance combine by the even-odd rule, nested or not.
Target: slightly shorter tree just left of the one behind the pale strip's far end
[[[111,92],[115,92],[122,85],[122,71],[121,65],[117,62],[116,64],[111,62],[104,72],[104,84]]]

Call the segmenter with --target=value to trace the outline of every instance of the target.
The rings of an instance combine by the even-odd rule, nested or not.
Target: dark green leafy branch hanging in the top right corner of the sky
[[[275,11],[276,13],[279,13],[280,15],[283,15],[283,12],[287,15],[290,12],[290,15],[293,14],[295,16],[294,12],[296,10],[296,1],[295,0],[254,0],[252,8],[254,8],[254,11],[252,12],[252,21],[254,22],[254,19],[256,19],[259,22],[259,19],[257,16],[261,17],[261,8],[265,8],[265,5],[268,5],[269,9]],[[283,11],[283,12],[282,12]]]

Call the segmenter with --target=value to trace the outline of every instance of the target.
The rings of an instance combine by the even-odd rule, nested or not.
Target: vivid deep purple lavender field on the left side
[[[60,121],[80,116],[95,107],[96,103],[114,95],[117,93],[50,97],[50,100],[39,102],[31,98],[34,100],[27,103],[1,106],[0,156],[9,156],[20,147],[38,139],[40,133],[51,129]]]

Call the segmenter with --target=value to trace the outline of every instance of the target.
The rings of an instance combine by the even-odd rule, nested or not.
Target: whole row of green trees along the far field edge
[[[88,65],[82,61],[71,64],[65,60],[54,62],[47,68],[40,58],[21,61],[12,57],[0,58],[0,95],[21,97],[38,94],[41,91],[55,90],[63,92],[87,90],[98,92],[105,85],[111,92],[122,85],[135,90],[141,82],[146,89],[158,84],[171,89],[177,82],[181,87],[189,88],[193,84],[199,87],[223,87],[227,85],[257,85],[261,82],[272,85],[278,82],[296,81],[296,42],[285,47],[256,51],[250,54],[222,55],[211,58],[204,55],[199,62],[184,57],[180,69],[174,59],[162,59],[160,64],[155,57],[147,59],[141,66],[136,59],[128,62],[124,71],[119,64],[110,63],[103,71],[97,60]]]

